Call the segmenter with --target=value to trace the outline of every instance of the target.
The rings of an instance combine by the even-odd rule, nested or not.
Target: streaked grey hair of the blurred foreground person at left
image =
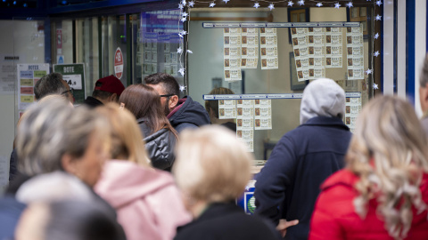
[[[62,156],[84,155],[92,132],[107,131],[102,116],[86,107],[72,108],[66,100],[45,100],[22,116],[16,137],[19,170],[29,176],[63,171]]]

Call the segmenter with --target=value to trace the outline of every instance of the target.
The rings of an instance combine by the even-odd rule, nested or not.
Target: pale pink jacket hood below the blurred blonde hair
[[[109,160],[104,164],[95,192],[119,209],[161,188],[175,185],[169,172],[142,167],[126,160]]]

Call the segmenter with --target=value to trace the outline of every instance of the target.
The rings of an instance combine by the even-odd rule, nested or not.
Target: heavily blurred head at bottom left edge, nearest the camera
[[[103,206],[88,202],[31,204],[16,228],[17,240],[123,240]]]

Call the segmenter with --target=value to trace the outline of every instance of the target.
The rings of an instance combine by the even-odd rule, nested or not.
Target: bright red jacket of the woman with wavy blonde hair
[[[325,180],[310,222],[309,240],[393,239],[384,228],[384,221],[376,215],[376,200],[369,201],[365,220],[355,212],[353,200],[358,192],[353,186],[357,181],[358,176],[349,170],[336,172]],[[424,174],[420,189],[427,204],[428,174]],[[406,239],[428,239],[427,211],[416,214],[413,209],[412,226]]]

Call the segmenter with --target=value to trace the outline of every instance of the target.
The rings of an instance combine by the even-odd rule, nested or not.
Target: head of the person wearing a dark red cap
[[[116,76],[105,76],[95,83],[92,97],[87,97],[83,102],[89,108],[95,108],[108,102],[118,102],[120,94],[125,87]]]

